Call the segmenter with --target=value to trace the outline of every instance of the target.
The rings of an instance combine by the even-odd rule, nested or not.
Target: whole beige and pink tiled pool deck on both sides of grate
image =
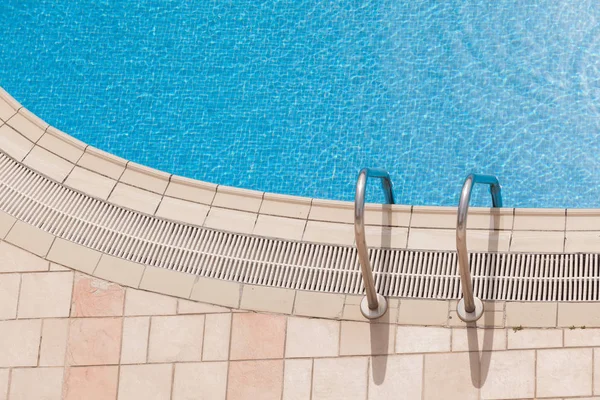
[[[230,232],[353,244],[351,203],[151,170],[49,127],[1,90],[0,150],[139,212]],[[384,208],[367,209],[370,245],[455,249],[455,209]],[[600,210],[470,214],[470,250],[600,248]],[[360,299],[137,264],[0,212],[0,399],[600,396],[597,303],[487,302],[479,328],[467,328],[454,300],[390,299],[382,320],[369,323]]]

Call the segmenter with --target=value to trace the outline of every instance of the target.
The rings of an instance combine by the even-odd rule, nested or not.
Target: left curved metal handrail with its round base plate
[[[369,177],[381,179],[381,187],[388,204],[394,204],[394,193],[392,192],[390,175],[386,171],[376,168],[363,168],[359,172],[354,197],[354,237],[356,238],[358,260],[366,291],[366,296],[360,303],[360,311],[366,318],[374,319],[385,314],[387,301],[375,290],[375,281],[373,280],[373,271],[371,270],[369,251],[365,239],[365,188]]]

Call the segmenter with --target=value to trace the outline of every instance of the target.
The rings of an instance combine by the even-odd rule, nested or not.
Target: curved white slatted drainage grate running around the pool
[[[55,236],[130,261],[255,285],[363,293],[354,247],[221,232],[153,217],[69,189],[0,152],[0,210]],[[599,254],[472,253],[488,300],[599,300]],[[460,297],[450,251],[371,249],[385,296]]]

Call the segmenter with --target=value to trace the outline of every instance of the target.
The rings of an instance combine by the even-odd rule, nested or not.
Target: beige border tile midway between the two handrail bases
[[[448,321],[448,302],[445,300],[402,299],[399,324],[445,325]]]

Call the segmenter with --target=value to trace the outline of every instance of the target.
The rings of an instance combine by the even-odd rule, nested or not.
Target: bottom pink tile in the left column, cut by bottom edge
[[[118,375],[117,366],[67,368],[63,400],[115,400]]]

